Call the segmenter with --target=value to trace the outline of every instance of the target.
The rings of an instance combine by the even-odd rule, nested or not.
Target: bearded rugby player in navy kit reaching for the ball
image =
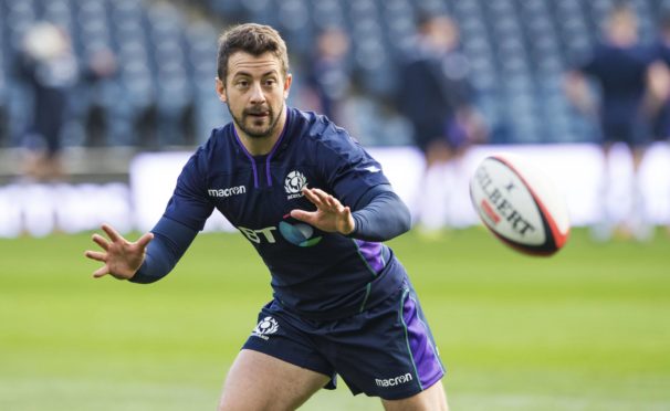
[[[130,243],[103,225],[109,240],[93,235],[103,251],[86,256],[104,263],[94,276],[159,280],[216,208],[257,249],[274,292],[220,410],[293,410],[334,388],[336,373],[387,410],[446,410],[430,329],[405,268],[380,243],[408,230],[409,212],[344,129],[285,106],[291,82],[276,31],[226,32],[216,88],[233,122],[190,158],[150,233]]]

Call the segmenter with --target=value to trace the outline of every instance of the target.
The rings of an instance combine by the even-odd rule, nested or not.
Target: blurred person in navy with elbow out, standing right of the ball
[[[635,235],[638,240],[651,234],[646,221],[645,204],[638,181],[639,166],[651,137],[650,75],[652,53],[638,40],[637,15],[628,7],[615,7],[604,24],[601,44],[566,80],[566,92],[573,103],[584,113],[598,118],[605,159],[601,217],[594,225],[597,240],[609,239],[615,230],[622,235]],[[596,81],[600,88],[599,104],[588,86],[587,78]],[[624,219],[617,218],[609,199],[620,181],[613,181],[610,170],[611,148],[616,143],[628,147],[632,156],[632,179],[626,198],[631,199]],[[619,220],[619,221],[617,221]]]

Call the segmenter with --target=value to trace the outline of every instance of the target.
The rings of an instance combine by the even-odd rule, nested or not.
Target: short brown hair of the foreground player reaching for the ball
[[[219,55],[217,57],[217,75],[226,83],[228,75],[228,60],[235,52],[245,52],[251,55],[261,55],[270,52],[274,54],[282,65],[282,74],[289,73],[289,52],[286,43],[280,33],[270,25],[244,23],[226,30],[219,36]]]

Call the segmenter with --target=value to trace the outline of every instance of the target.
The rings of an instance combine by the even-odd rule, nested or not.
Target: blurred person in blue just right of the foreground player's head
[[[352,91],[348,52],[349,38],[341,28],[324,29],[314,43],[305,91],[311,109],[343,126],[347,124],[343,118],[343,105]]]

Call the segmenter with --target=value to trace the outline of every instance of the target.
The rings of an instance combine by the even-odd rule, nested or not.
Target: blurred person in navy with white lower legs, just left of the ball
[[[460,158],[471,144],[485,138],[486,130],[473,106],[470,63],[460,50],[454,21],[447,15],[421,18],[412,52],[401,68],[398,103],[426,159],[416,208],[419,224],[435,232],[450,223]]]

